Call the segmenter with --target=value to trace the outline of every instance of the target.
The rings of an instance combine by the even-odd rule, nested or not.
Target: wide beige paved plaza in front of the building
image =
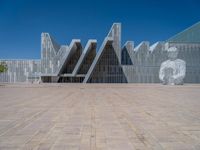
[[[200,150],[200,85],[0,86],[0,150]]]

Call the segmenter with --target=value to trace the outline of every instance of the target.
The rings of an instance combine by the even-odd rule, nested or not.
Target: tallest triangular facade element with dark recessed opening
[[[126,82],[121,68],[121,24],[113,24],[83,82]]]

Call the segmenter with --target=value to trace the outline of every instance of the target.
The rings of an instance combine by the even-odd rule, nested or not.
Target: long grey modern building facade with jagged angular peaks
[[[85,47],[79,39],[59,45],[42,33],[41,60],[0,60],[8,66],[0,82],[159,83],[159,68],[171,46],[186,61],[184,82],[200,83],[200,22],[166,41],[136,47],[133,41],[121,47],[121,24],[114,23],[99,50],[94,39]]]

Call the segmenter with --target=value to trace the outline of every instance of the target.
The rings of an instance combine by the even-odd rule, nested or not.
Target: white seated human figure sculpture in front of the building
[[[186,63],[184,60],[177,59],[178,49],[176,47],[168,48],[167,52],[169,59],[161,64],[159,78],[165,85],[182,85]]]

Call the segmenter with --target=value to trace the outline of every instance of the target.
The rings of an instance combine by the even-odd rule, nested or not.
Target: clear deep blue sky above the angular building
[[[113,22],[126,40],[166,40],[200,21],[199,0],[0,0],[0,58],[40,58],[40,36],[101,45]]]

